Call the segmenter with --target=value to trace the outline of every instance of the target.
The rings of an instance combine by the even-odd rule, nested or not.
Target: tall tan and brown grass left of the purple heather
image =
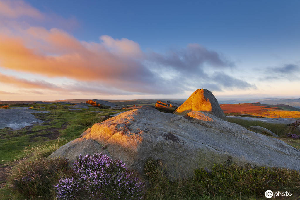
[[[53,185],[59,177],[69,173],[64,159],[46,159],[64,141],[25,148],[27,159],[17,161],[7,184],[0,188],[0,199],[54,199]]]

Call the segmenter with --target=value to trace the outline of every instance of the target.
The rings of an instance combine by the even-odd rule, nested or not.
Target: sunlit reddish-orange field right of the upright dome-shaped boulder
[[[270,118],[300,118],[300,111],[298,108],[286,105],[265,105],[257,102],[244,104],[222,104],[220,107],[226,115],[248,114]]]

